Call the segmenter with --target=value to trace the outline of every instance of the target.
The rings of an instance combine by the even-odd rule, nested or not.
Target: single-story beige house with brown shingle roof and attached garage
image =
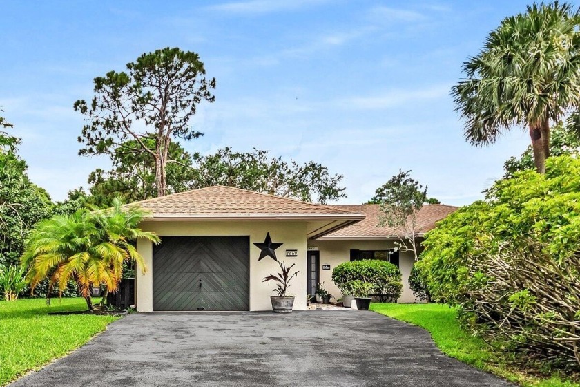
[[[280,271],[272,255],[300,272],[289,287],[295,310],[306,309],[307,294],[318,282],[340,298],[332,268],[363,258],[399,265],[399,301],[414,301],[407,285],[414,258],[394,251],[396,233],[378,227],[378,205],[318,205],[223,186],[133,205],[150,213],[140,227],[162,239],[160,245],[137,241],[147,265],[136,274],[139,312],[271,310],[275,284],[262,279]],[[425,205],[418,215],[420,232],[454,209]]]

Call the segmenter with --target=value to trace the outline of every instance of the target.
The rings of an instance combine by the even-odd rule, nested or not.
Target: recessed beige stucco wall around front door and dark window
[[[324,282],[327,290],[337,299],[340,299],[342,294],[332,281],[332,270],[336,265],[350,261],[351,249],[386,250],[395,247],[392,240],[309,240],[308,246],[318,247],[318,251],[320,251],[320,282]],[[403,292],[398,299],[399,303],[416,302],[413,292],[409,288],[409,275],[414,261],[412,252],[399,254],[399,268],[403,276]],[[322,270],[322,265],[330,265],[330,270]]]

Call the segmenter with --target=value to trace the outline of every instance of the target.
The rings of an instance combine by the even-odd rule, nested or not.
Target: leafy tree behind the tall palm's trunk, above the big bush
[[[563,124],[560,122],[550,131],[550,155],[572,155],[580,151],[580,137],[578,126],[573,126],[572,122]],[[528,147],[519,158],[511,157],[503,164],[505,169],[504,178],[513,178],[518,171],[534,169],[534,150]]]

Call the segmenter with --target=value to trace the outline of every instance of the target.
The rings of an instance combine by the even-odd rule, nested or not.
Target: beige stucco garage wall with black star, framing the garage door
[[[278,263],[272,258],[263,258],[258,262],[260,249],[253,242],[264,242],[269,232],[273,242],[284,243],[276,250],[278,260],[291,265],[300,273],[291,281],[289,292],[296,295],[294,310],[306,309],[306,243],[307,225],[300,221],[213,221],[213,222],[144,222],[140,227],[163,236],[249,236],[250,237],[250,310],[271,310],[270,296],[275,284],[262,283],[269,274],[280,271]],[[286,249],[297,249],[298,256],[286,257]],[[137,270],[136,298],[139,312],[153,311],[153,247],[150,242],[137,241],[137,251],[142,254],[147,265],[147,272]]]

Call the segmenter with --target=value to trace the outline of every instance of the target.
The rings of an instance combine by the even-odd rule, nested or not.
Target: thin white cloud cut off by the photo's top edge
[[[256,15],[287,10],[297,10],[305,6],[325,3],[326,0],[250,0],[208,6],[206,10],[229,12],[242,15]]]

